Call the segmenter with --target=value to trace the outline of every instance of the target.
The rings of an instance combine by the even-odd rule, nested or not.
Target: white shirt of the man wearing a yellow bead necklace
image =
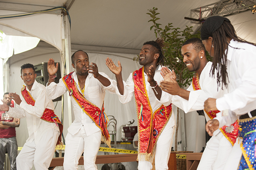
[[[111,84],[105,87],[101,84],[101,82],[99,82],[98,79],[94,78],[93,74],[89,73],[85,81],[83,94],[88,101],[90,101],[91,103],[93,103],[94,105],[102,109],[102,104],[105,97],[105,90],[108,90],[110,93],[115,93],[116,89],[115,89],[115,86],[113,85],[113,80],[111,80],[105,73],[99,72],[99,74],[108,78]],[[74,78],[74,81],[76,82],[77,89],[82,94],[81,89],[79,88],[79,85],[78,85],[78,78],[76,76],[76,71],[72,73],[71,76],[72,78]],[[67,91],[68,89],[65,86],[62,78],[60,79],[58,84],[56,84],[55,82],[52,82],[50,85],[46,87],[46,93],[49,99],[57,98]],[[82,126],[84,126],[87,136],[100,131],[100,129],[97,127],[94,121],[86,113],[83,112],[83,110],[80,108],[80,106],[72,96],[71,96],[71,103],[73,106],[72,108],[73,108],[75,120],[68,128],[69,133],[71,133],[72,135],[75,135]]]

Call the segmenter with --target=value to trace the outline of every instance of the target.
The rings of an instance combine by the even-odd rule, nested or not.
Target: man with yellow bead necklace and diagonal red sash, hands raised
[[[68,128],[64,154],[64,170],[78,169],[78,160],[84,152],[84,169],[97,170],[95,165],[101,141],[110,147],[106,129],[108,119],[104,112],[105,90],[115,92],[113,80],[105,73],[98,72],[95,63],[89,63],[87,53],[76,51],[72,56],[74,72],[54,83],[58,65],[53,59],[48,61],[49,81],[46,87],[50,99],[69,93],[75,120]]]

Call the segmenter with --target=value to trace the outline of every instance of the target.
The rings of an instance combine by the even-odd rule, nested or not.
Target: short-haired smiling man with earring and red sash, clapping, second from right
[[[184,110],[185,113],[203,110],[204,101],[209,97],[222,97],[227,90],[218,88],[216,76],[210,76],[212,62],[208,62],[205,55],[205,47],[199,38],[187,40],[181,48],[183,62],[187,65],[190,72],[196,72],[193,76],[192,84],[187,90],[180,88],[177,84],[176,75],[173,71],[163,68],[162,75],[166,81],[161,82],[160,87],[163,91],[173,94],[172,104]],[[206,120],[216,117],[219,111],[204,111]],[[219,113],[221,114],[221,113]],[[217,114],[217,115],[219,115]],[[238,135],[238,122],[231,126],[224,126],[215,132],[214,136],[207,142],[197,170],[222,170],[227,158],[232,150]],[[238,144],[236,143],[237,147]],[[239,147],[239,146],[238,146]]]

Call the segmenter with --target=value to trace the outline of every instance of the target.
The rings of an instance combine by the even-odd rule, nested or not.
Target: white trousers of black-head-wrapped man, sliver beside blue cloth
[[[227,158],[227,162],[224,166],[223,170],[237,170],[238,169],[238,165],[240,163],[240,159],[242,157],[242,150],[240,148],[240,144],[242,142],[242,139],[237,138],[236,143],[234,144],[229,158]]]

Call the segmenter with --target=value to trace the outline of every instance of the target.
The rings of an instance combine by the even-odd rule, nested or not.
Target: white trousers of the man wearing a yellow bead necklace
[[[83,152],[84,170],[97,170],[95,161],[100,145],[101,131],[87,136],[84,126],[82,126],[75,135],[68,132],[63,163],[64,170],[78,170],[78,161]]]

